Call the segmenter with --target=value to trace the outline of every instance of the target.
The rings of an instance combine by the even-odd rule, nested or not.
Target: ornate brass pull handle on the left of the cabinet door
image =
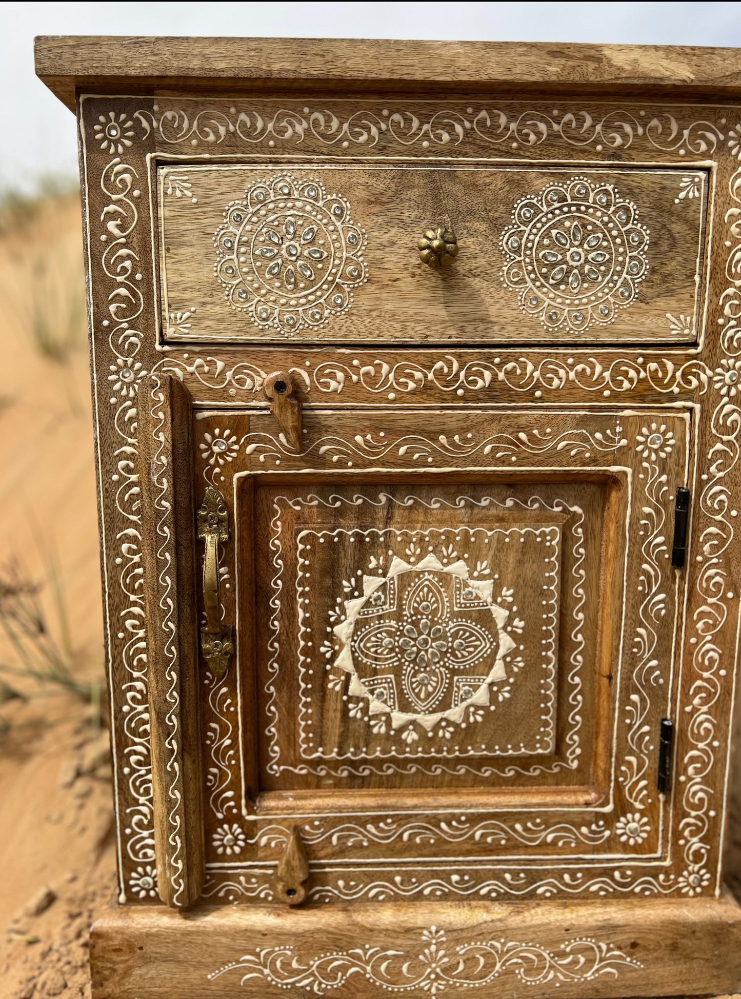
[[[201,651],[215,676],[223,676],[234,651],[232,628],[221,620],[219,542],[229,540],[229,511],[223,496],[209,486],[198,510],[198,537],[205,541],[203,559],[203,606],[206,623],[201,627]]]

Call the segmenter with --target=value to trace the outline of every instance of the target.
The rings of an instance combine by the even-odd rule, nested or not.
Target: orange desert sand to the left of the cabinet
[[[43,205],[0,235],[0,577],[49,582],[56,562],[81,682],[103,679],[92,417],[82,331],[66,360],[39,349],[34,299],[52,337],[66,338],[72,307],[84,306],[80,208],[76,198]],[[54,299],[56,306],[47,303]],[[53,351],[53,347],[51,348]],[[57,633],[54,642],[61,642]],[[0,662],[23,669],[5,635]],[[90,994],[87,936],[93,910],[114,891],[108,735],[80,698],[0,672],[28,700],[5,700],[0,719],[0,996],[45,999]],[[4,689],[4,688],[0,688]],[[7,697],[7,690],[5,693]],[[0,722],[1,724],[2,722]]]

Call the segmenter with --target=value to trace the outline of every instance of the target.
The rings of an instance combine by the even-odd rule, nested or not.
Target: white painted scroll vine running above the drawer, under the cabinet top
[[[229,103],[189,112],[184,102],[179,107],[167,108],[155,102],[151,109],[139,109],[131,117],[124,116],[126,120],[122,123],[114,122],[112,127],[117,133],[123,127],[129,134],[136,128],[142,139],[152,137],[167,145],[183,145],[190,147],[189,152],[201,152],[202,146],[210,151],[222,144],[248,148],[264,145],[268,150],[280,152],[291,147],[300,149],[304,143],[312,142],[314,149],[333,148],[338,152],[350,149],[354,153],[364,152],[379,145],[439,152],[445,147],[476,143],[490,150],[522,155],[549,144],[565,143],[572,149],[592,148],[602,153],[626,150],[642,142],[665,153],[709,156],[719,151],[725,141],[732,152],[738,146],[733,130],[726,134],[707,119],[682,123],[669,112],[634,113],[620,109],[595,117],[586,109],[545,114],[535,109],[448,105],[424,120],[428,112],[422,107],[418,110],[388,107],[380,112],[364,109],[345,115],[308,107],[242,109],[236,105],[227,107]],[[721,119],[720,125],[724,128],[726,119]],[[113,138],[118,140],[118,134]],[[123,152],[118,141],[111,142],[105,129],[98,141],[103,151],[118,151],[119,155]],[[130,140],[124,141],[131,145]]]

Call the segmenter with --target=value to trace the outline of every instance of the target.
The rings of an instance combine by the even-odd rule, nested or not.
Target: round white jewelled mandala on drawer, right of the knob
[[[582,333],[636,300],[648,239],[638,209],[614,185],[572,177],[515,203],[501,238],[502,279],[547,330]]]

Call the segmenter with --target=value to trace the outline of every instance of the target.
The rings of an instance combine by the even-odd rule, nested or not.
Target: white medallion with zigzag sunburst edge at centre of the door
[[[392,731],[416,722],[430,732],[489,705],[515,647],[493,585],[471,579],[463,559],[443,565],[434,554],[416,565],[394,557],[386,575],[363,577],[363,595],[345,601],[334,628],[334,666],[369,701],[369,716],[387,716]]]

